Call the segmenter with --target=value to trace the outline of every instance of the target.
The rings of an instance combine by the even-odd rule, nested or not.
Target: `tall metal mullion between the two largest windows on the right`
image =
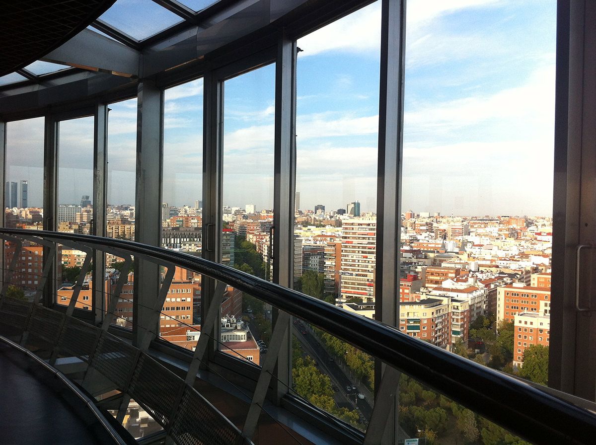
[[[392,326],[397,326],[399,320],[405,18],[405,0],[382,0],[375,318]],[[382,382],[387,372],[392,371],[377,360],[375,381]],[[377,416],[387,419],[381,443],[394,444],[399,431],[398,394],[392,397],[378,388],[373,420],[376,422]],[[393,402],[385,403],[387,397]]]

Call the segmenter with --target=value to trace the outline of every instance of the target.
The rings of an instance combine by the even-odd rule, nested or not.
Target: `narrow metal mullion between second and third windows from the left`
[[[105,236],[105,215],[107,214],[107,141],[108,107],[95,107],[93,150],[93,227],[91,235]],[[99,323],[105,314],[105,254],[93,250],[93,297],[95,322]]]

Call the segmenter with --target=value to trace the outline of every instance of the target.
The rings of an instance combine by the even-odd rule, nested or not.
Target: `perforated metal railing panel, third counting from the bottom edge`
[[[102,332],[91,366],[114,382],[121,391],[127,391],[139,353],[134,346]]]

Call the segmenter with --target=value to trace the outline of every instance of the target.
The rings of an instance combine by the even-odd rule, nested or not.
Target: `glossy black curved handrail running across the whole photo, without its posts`
[[[0,229],[0,233],[77,241],[118,248],[210,276],[304,319],[387,365],[537,444],[591,444],[596,416],[581,407],[491,368],[403,334],[317,298],[209,260],[133,241],[62,232]],[[396,385],[398,382],[395,382]]]

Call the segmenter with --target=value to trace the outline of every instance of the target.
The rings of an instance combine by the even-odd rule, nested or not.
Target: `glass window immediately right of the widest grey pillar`
[[[162,247],[200,256],[203,245],[203,79],[165,91],[162,190]],[[201,275],[177,267],[169,292],[192,293],[193,304],[182,307],[166,304],[160,336],[193,350],[200,332]],[[181,301],[180,298],[167,299],[176,300]],[[181,331],[185,337],[179,336]]]

